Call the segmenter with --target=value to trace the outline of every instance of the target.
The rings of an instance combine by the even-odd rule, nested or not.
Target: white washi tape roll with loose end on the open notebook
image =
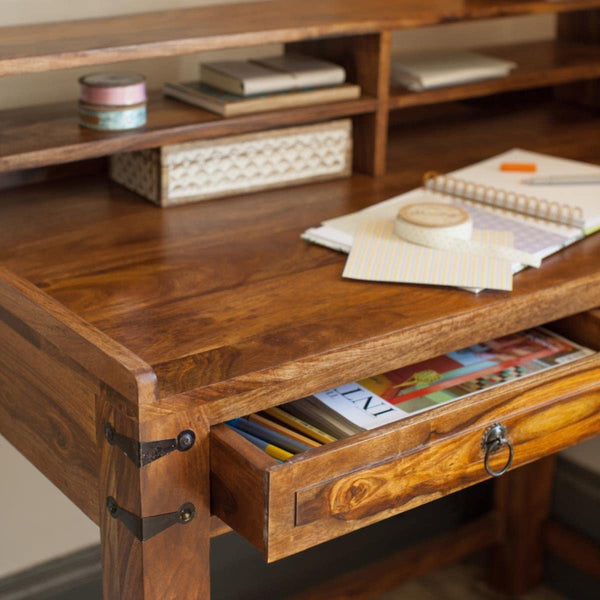
[[[396,216],[395,231],[403,240],[419,246],[481,254],[531,267],[541,265],[541,260],[528,252],[471,239],[473,221],[469,213],[452,204],[407,204]]]

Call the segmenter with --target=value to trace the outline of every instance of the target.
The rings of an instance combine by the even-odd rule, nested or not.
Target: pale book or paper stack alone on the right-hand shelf
[[[392,56],[392,83],[413,92],[506,77],[517,64],[479,52],[436,50]]]

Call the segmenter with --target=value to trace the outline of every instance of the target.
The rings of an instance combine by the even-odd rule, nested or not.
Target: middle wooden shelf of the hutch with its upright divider
[[[387,38],[389,34],[384,33],[381,36],[372,34],[289,45],[292,49],[328,56],[344,64],[349,80],[360,83],[366,94],[358,100],[223,118],[155,92],[150,95],[148,123],[143,128],[122,132],[97,132],[79,127],[74,102],[39,106],[35,110],[19,108],[3,111],[0,113],[3,134],[0,139],[0,172],[193,139],[355,116],[356,168],[375,173],[374,166],[377,166],[376,174],[381,175],[381,165],[385,165],[388,96],[390,108],[406,108],[593,79],[600,74],[599,47],[581,43],[584,40],[575,38],[483,48],[483,52],[492,56],[518,63],[518,68],[506,78],[419,93],[395,86],[390,94],[387,85],[389,69],[386,67],[389,60]]]

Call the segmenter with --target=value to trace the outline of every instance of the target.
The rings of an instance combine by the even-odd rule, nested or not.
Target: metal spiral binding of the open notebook
[[[481,183],[442,175],[436,171],[428,171],[423,175],[423,187],[433,192],[449,194],[465,200],[476,200],[500,209],[512,210],[563,225],[575,225],[578,219],[583,219],[583,210],[579,206],[571,207],[526,194],[507,192]]]

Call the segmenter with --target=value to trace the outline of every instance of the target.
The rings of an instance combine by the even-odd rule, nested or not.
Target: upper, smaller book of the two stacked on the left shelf
[[[345,79],[346,71],[339,65],[294,53],[200,65],[203,83],[239,96],[339,85]]]

